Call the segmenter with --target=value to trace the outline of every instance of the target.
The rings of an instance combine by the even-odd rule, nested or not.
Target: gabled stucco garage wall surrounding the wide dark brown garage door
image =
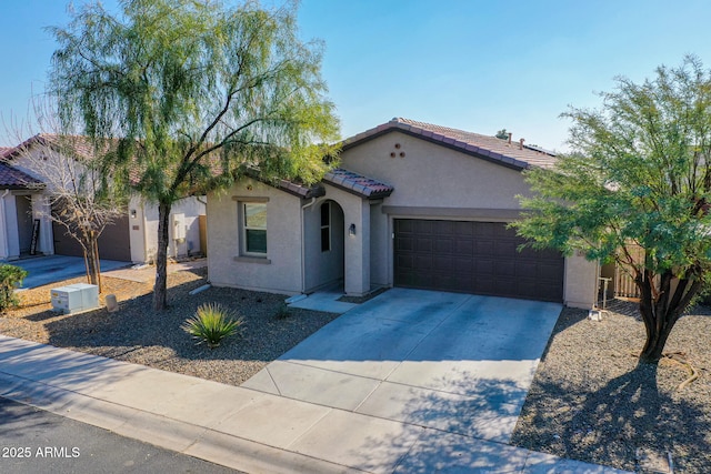
[[[395,153],[391,158],[391,153]],[[400,157],[404,153],[404,157]],[[452,219],[510,222],[520,210],[517,194],[530,195],[520,171],[478,159],[401,132],[390,132],[341,154],[348,170],[393,185],[371,214],[371,279],[392,285],[393,220]],[[597,264],[565,259],[564,302],[594,304]]]

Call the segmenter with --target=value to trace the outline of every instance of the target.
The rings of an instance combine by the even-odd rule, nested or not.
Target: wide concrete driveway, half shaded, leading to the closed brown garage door
[[[508,443],[562,306],[393,289],[242,384]]]

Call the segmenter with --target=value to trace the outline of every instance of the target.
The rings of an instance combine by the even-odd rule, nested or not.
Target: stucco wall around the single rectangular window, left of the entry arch
[[[240,258],[238,199],[268,199],[267,259]],[[208,195],[208,278],[216,286],[302,291],[301,199],[254,180]]]

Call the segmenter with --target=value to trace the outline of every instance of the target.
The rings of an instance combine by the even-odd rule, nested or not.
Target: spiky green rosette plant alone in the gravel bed
[[[231,311],[219,304],[206,303],[181,327],[198,340],[197,344],[204,342],[208,347],[214,349],[224,337],[241,334],[243,324],[244,320],[236,317]]]

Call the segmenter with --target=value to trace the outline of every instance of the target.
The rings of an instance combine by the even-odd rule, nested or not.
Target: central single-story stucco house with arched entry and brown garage
[[[521,171],[554,157],[510,139],[393,119],[342,143],[318,185],[253,179],[208,195],[213,285],[284,294],[407,286],[591,307],[598,265],[519,252],[507,223],[530,194]]]

